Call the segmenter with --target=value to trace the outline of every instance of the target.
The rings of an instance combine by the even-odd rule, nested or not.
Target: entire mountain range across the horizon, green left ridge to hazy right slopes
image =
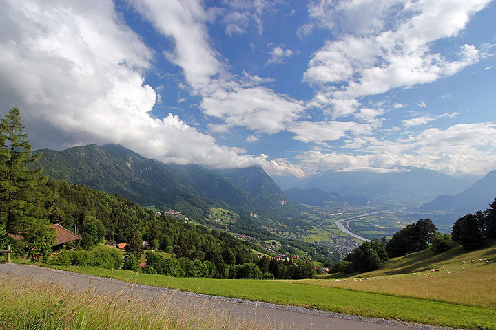
[[[249,230],[264,225],[262,220],[257,222],[258,215],[291,225],[307,210],[300,204],[423,204],[417,210],[442,211],[449,214],[446,221],[450,222],[457,215],[485,210],[496,196],[496,171],[473,185],[422,168],[391,173],[328,171],[304,179],[274,177],[282,187],[291,188],[282,192],[260,166],[209,170],[194,164],[164,164],[115,144],[34,153],[42,153],[37,165],[55,179],[122,195],[158,210],[180,210],[194,219],[207,217],[212,207],[227,208],[245,214]]]

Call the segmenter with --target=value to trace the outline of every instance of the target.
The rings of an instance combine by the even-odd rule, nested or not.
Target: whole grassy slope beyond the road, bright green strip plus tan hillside
[[[491,259],[490,263],[479,262],[486,257]],[[471,260],[476,262],[471,263]],[[340,281],[335,281],[337,275],[316,280],[257,281],[171,278],[81,267],[70,270],[147,285],[347,314],[464,329],[496,329],[495,260],[496,243],[475,252],[465,252],[459,246],[438,255],[425,250],[392,259],[380,270],[340,278]],[[428,272],[433,268],[441,271]]]

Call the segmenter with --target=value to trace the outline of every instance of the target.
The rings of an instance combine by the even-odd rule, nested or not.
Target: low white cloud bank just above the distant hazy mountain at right
[[[361,148],[364,155],[325,153],[312,148],[296,156],[305,173],[356,168],[428,168],[443,173],[484,174],[496,168],[496,124],[458,124],[442,130],[426,129],[404,140],[358,137],[342,147]]]

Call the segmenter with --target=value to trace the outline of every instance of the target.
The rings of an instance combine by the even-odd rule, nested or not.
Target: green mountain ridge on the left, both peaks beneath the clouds
[[[198,217],[211,206],[267,217],[278,216],[280,210],[295,212],[259,166],[225,170],[221,175],[193,164],[163,164],[114,144],[35,153],[42,153],[37,165],[51,177],[117,193],[143,206],[174,208]],[[285,217],[285,212],[279,216]]]

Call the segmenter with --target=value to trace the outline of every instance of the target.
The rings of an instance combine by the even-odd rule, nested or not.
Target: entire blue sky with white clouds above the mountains
[[[0,0],[0,114],[270,175],[496,170],[496,1]]]

